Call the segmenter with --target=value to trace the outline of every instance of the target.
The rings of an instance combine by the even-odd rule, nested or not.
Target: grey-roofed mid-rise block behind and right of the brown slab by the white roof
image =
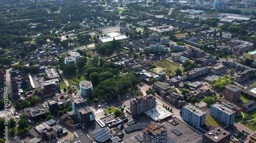
[[[166,82],[156,81],[153,84],[153,88],[156,92],[160,93],[162,97],[165,97],[169,94],[168,91],[170,89],[170,84]]]

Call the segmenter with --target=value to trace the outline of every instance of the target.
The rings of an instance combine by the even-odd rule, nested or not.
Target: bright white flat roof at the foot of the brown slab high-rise
[[[144,113],[152,118],[154,121],[162,120],[173,115],[172,112],[169,112],[160,105],[157,105],[156,107],[147,110]]]

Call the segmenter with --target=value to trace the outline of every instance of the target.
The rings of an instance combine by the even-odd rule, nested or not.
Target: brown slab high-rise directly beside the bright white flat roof
[[[138,96],[136,99],[130,101],[130,105],[132,115],[139,115],[156,106],[156,97],[153,95]]]

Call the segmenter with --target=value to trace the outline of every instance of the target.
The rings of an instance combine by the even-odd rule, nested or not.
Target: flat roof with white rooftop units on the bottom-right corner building
[[[219,142],[220,140],[229,135],[230,133],[221,127],[216,127],[215,129],[210,130],[209,132],[204,134],[204,136],[210,138],[214,142]]]

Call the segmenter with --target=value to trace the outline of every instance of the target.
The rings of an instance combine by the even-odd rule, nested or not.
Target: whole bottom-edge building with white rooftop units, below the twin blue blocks
[[[203,135],[203,143],[229,143],[230,136],[225,129],[216,127]]]

